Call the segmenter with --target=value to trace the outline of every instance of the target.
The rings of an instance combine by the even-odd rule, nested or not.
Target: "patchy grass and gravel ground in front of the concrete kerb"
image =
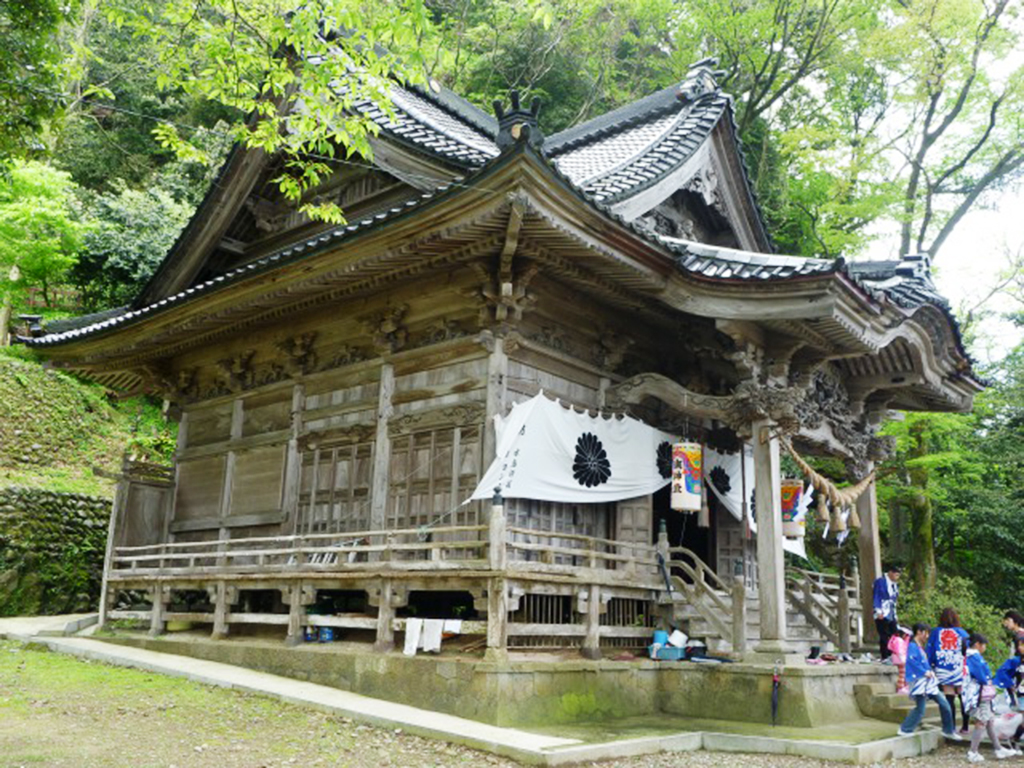
[[[898,761],[965,765],[966,750]],[[1024,759],[1009,761],[1024,765]],[[274,699],[0,643],[0,766],[507,766],[512,761]],[[677,753],[601,766],[811,768],[805,758]]]

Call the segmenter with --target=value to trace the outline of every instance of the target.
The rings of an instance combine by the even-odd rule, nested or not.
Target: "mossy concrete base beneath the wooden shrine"
[[[644,715],[771,725],[773,664],[520,660],[441,653],[370,652],[353,643],[280,642],[206,636],[147,638],[125,633],[108,642],[221,662],[501,726],[556,725]],[[510,660],[511,658],[511,660]],[[532,655],[537,659],[537,654]],[[793,666],[782,671],[777,724],[813,728],[861,717],[855,686],[887,683],[873,665]],[[400,680],[400,685],[395,681]]]

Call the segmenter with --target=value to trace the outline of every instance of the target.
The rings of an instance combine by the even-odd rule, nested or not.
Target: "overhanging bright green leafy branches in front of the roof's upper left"
[[[389,78],[422,82],[432,39],[422,0],[118,0],[104,10],[116,28],[153,46],[158,89],[180,89],[239,116],[231,126],[239,141],[282,158],[275,181],[285,196],[334,221],[338,207],[307,194],[335,157],[372,155],[378,127],[356,105],[390,110]],[[175,125],[156,133],[166,148],[196,155]]]

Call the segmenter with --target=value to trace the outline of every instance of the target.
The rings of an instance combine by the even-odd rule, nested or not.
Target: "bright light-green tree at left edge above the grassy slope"
[[[75,184],[52,166],[14,162],[0,182],[0,344],[12,307],[29,288],[49,290],[74,266],[84,226],[74,209]]]

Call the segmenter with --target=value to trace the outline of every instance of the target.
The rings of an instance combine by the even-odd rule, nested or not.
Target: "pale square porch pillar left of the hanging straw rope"
[[[754,429],[755,503],[758,519],[758,597],[761,607],[759,653],[784,653],[785,558],[782,550],[782,503],[778,438],[768,420]]]

